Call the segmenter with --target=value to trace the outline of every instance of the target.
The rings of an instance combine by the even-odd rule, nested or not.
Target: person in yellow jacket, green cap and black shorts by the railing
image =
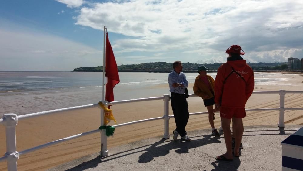
[[[214,125],[215,120],[215,110],[213,105],[215,104],[215,80],[206,74],[208,68],[201,65],[198,67],[199,75],[196,77],[195,84],[194,84],[194,93],[202,97],[204,106],[207,108],[208,111],[208,121],[212,128],[211,135],[220,136],[217,129]]]

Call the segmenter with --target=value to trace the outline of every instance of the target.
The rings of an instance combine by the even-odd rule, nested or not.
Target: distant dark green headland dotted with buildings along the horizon
[[[208,72],[216,72],[223,63],[182,63],[182,72],[197,72],[200,65],[204,65],[209,69]],[[285,71],[287,70],[286,62],[275,63],[248,63],[249,66],[255,71]],[[75,68],[75,72],[102,72],[103,66],[97,67],[80,67]],[[164,72],[172,71],[172,63],[167,62],[148,62],[140,64],[119,65],[119,72]]]

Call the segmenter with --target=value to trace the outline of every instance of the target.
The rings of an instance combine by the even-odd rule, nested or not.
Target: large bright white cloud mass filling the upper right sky
[[[78,25],[99,30],[107,26],[109,32],[132,36],[112,45],[119,55],[181,51],[188,60],[211,62],[225,61],[232,44],[240,44],[246,54],[303,48],[302,8],[299,0],[119,0],[82,7],[74,19]]]

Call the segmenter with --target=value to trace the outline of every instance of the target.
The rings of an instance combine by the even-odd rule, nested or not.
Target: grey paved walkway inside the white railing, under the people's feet
[[[95,153],[50,170],[281,170],[280,143],[302,126],[245,127],[242,155],[232,162],[215,160],[226,150],[223,135],[197,130],[188,132],[190,142],[155,137],[108,149],[103,158]]]

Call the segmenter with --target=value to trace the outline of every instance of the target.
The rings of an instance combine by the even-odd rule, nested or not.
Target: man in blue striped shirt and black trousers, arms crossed
[[[168,74],[169,91],[171,92],[171,108],[174,113],[176,129],[173,131],[173,139],[176,141],[180,134],[181,139],[190,141],[185,127],[188,122],[189,112],[188,103],[185,97],[185,88],[188,87],[188,81],[182,71],[181,61],[175,61],[172,65],[174,71]]]

